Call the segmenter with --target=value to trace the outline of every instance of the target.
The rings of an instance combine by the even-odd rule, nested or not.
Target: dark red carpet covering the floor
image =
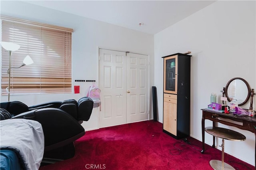
[[[74,158],[42,166],[40,170],[211,170],[209,161],[221,160],[221,151],[188,137],[191,144],[162,132],[162,123],[143,121],[91,130],[76,140]],[[254,170],[233,156],[225,162],[236,170]]]

